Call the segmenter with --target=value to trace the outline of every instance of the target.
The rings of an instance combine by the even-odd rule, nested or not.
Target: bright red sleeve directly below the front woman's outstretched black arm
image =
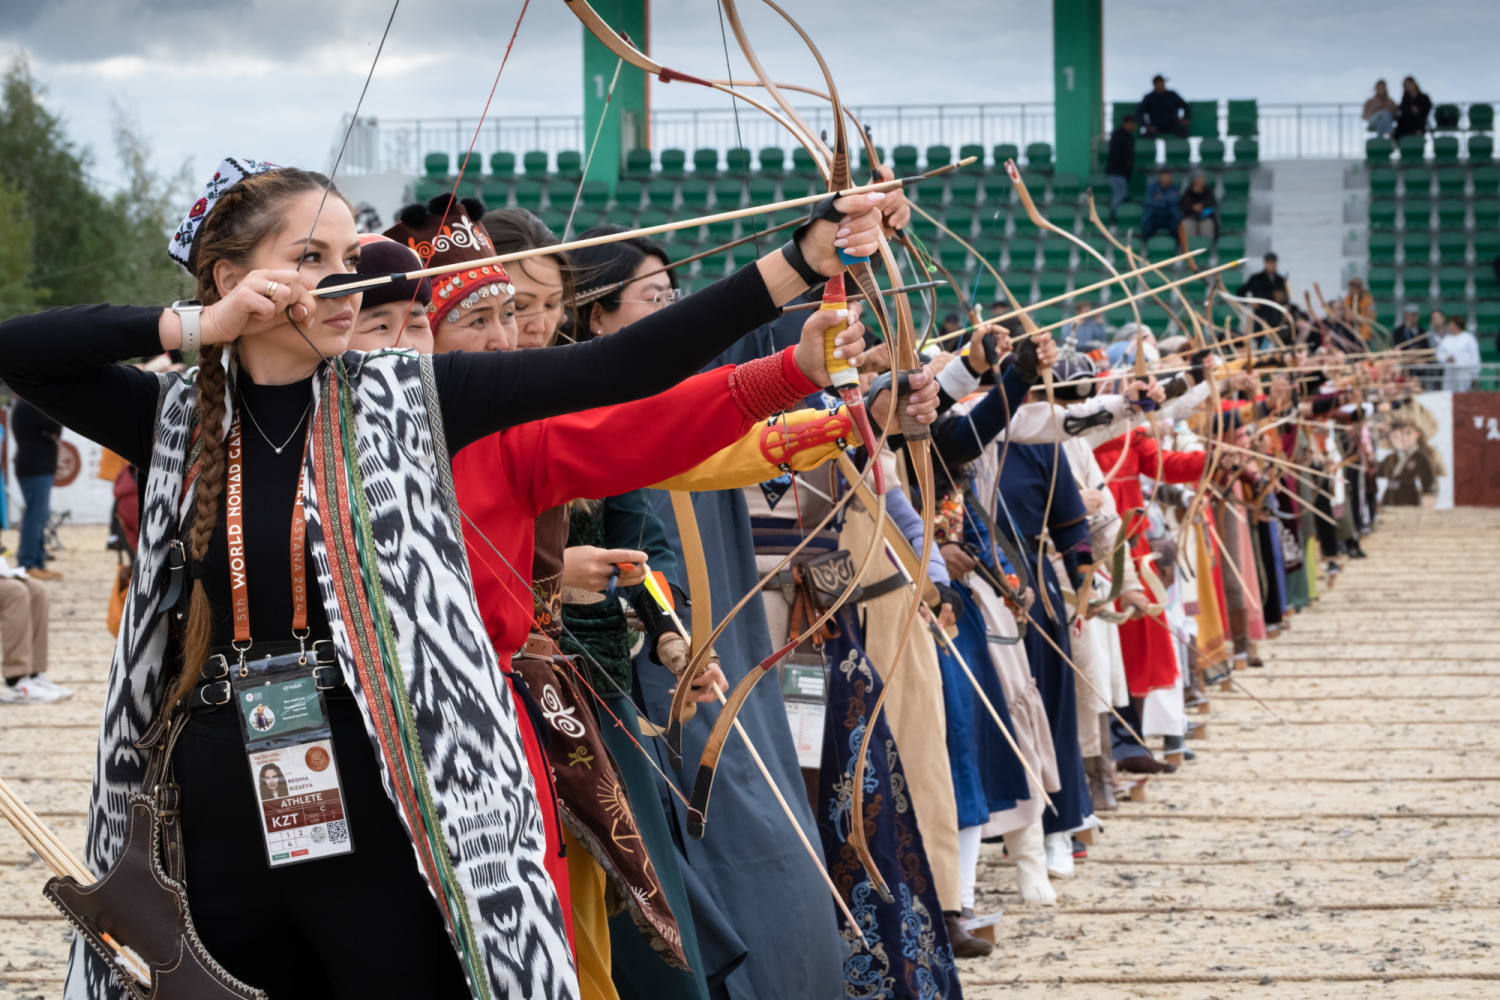
[[[537,421],[540,436],[525,442],[530,454],[512,454],[516,468],[531,469],[538,511],[579,496],[614,496],[693,468],[814,390],[788,348],[694,375],[657,396]],[[501,447],[522,436],[507,432]]]

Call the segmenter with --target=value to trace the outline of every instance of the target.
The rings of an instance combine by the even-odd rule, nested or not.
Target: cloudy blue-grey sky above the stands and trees
[[[1052,99],[1046,0],[783,0],[828,55],[852,105]],[[364,112],[480,112],[522,0],[404,0]],[[795,34],[741,4],[766,69],[818,82]],[[1104,0],[1106,97],[1166,72],[1188,99],[1362,100],[1376,76],[1414,73],[1436,100],[1500,99],[1494,0]],[[390,12],[387,0],[0,0],[0,54],[26,52],[48,105],[116,174],[111,103],[140,121],[159,168],[207,172],[225,154],[324,166]],[[712,0],[654,0],[652,54],[724,73]],[[730,37],[732,54],[734,39]],[[582,27],[531,0],[492,115],[578,114]],[[744,63],[734,58],[735,72]],[[626,70],[632,72],[632,70]],[[658,108],[723,106],[652,85]],[[753,114],[753,112],[752,112]]]

